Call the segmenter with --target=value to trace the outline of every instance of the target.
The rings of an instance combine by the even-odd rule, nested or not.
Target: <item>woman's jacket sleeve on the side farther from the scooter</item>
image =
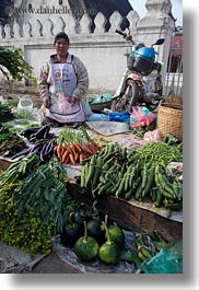
[[[50,98],[48,83],[47,83],[48,71],[49,71],[49,63],[48,61],[46,61],[44,67],[40,69],[39,77],[37,79],[37,89],[43,101],[47,101]]]

